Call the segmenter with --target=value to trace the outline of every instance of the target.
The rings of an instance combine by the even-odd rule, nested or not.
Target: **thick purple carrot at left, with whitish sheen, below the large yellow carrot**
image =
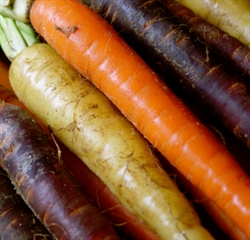
[[[0,164],[56,239],[120,239],[59,161],[40,125],[18,106],[0,105]]]

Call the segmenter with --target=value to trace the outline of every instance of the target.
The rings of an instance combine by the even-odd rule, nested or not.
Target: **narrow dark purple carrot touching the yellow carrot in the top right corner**
[[[161,0],[198,38],[250,77],[250,48],[174,0]]]

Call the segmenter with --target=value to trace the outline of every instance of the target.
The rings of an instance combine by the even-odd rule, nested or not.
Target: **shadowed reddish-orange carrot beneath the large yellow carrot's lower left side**
[[[86,195],[99,207],[102,213],[117,230],[128,237],[144,240],[158,240],[159,237],[149,230],[138,218],[129,212],[109,188],[75,154],[63,145],[50,130],[25,105],[17,99],[13,91],[0,85],[0,99],[15,104],[27,111],[41,125],[51,143],[59,148],[61,160],[83,188]]]

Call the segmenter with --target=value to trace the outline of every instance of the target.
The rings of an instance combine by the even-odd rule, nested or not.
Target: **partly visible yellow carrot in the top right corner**
[[[250,47],[249,0],[177,1]]]

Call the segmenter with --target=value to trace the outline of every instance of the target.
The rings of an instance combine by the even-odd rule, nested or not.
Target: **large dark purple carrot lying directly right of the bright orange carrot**
[[[162,2],[81,2],[111,23],[180,98],[192,96],[250,147],[249,86]]]

